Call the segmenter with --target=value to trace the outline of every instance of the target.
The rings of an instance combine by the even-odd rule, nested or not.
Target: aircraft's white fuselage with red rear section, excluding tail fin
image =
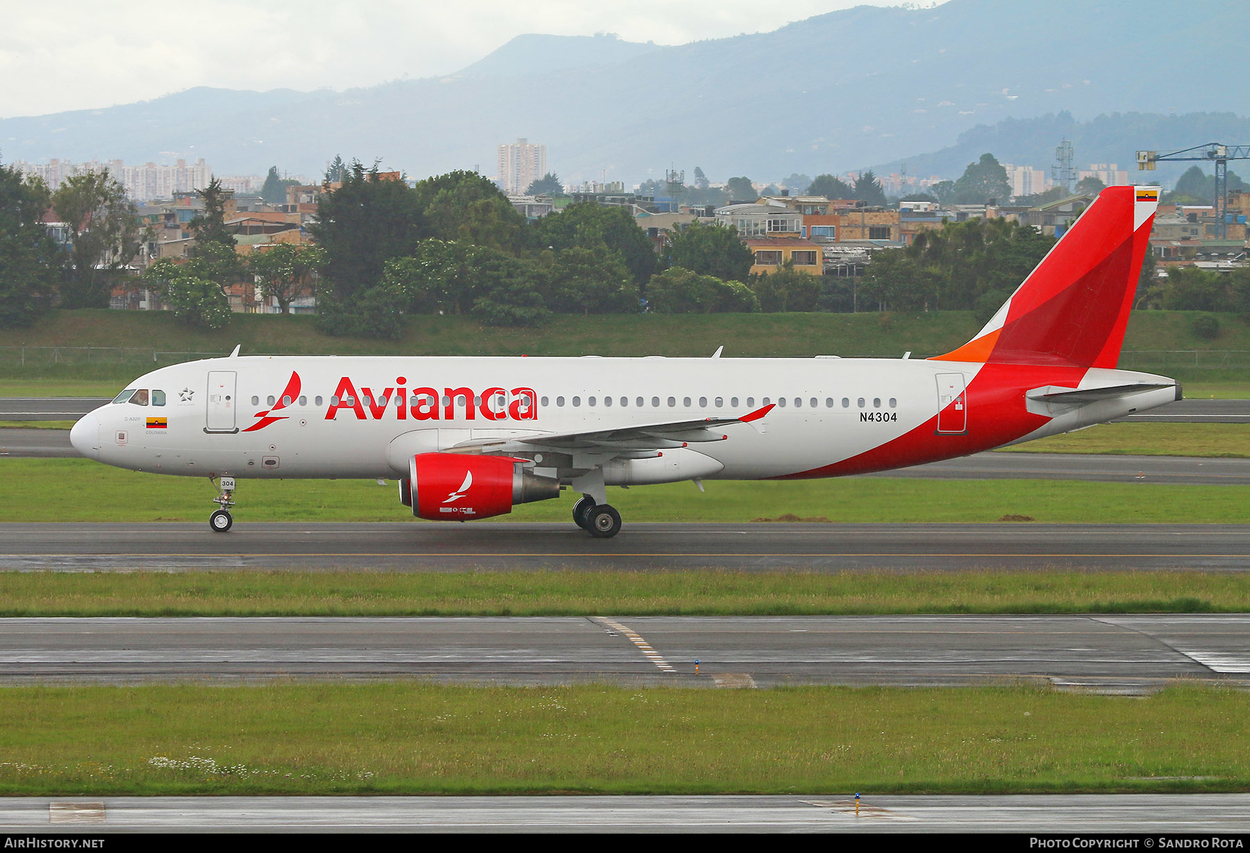
[[[144,375],[129,388],[146,389],[148,405],[101,406],[79,421],[72,440],[100,462],[164,474],[398,478],[414,453],[481,439],[731,419],[774,405],[758,420],[728,424],[722,439],[669,452],[666,467],[618,462],[605,468],[610,485],[879,470],[1078,429],[1176,399],[1171,380],[1120,370],[1068,369],[1058,379],[1039,379],[1042,368],[998,365],[992,383],[979,390],[986,368],[838,358],[232,356]],[[1169,386],[1054,411],[1024,400],[1039,385],[1135,381]],[[155,405],[159,398],[164,405]],[[898,452],[882,455],[884,445]],[[546,464],[549,475],[565,480],[586,465],[569,454]]]

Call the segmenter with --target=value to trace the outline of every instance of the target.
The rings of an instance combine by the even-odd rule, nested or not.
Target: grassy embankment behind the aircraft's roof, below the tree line
[[[1205,340],[1192,333],[1198,315],[1134,313],[1121,366],[1176,376],[1191,396],[1250,396],[1250,325],[1221,314],[1220,335]],[[492,329],[465,316],[411,316],[402,340],[376,341],[324,335],[315,319],[236,314],[224,329],[206,331],[181,326],[164,311],[54,311],[35,328],[6,331],[0,339],[0,396],[44,393],[45,380],[65,383],[66,395],[111,396],[156,366],[154,350],[225,355],[236,344],[245,354],[704,356],[724,344],[728,356],[900,358],[910,350],[921,358],[949,351],[979,329],[971,311],[558,316],[540,329]],[[21,346],[135,351],[119,361],[106,350],[54,355],[14,349]]]

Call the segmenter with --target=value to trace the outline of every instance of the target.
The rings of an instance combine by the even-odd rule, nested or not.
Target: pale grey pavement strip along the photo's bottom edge
[[[0,832],[1180,833],[1250,830],[1250,794],[916,797],[5,797]],[[1076,847],[1095,847],[1099,838]],[[1131,837],[1129,838],[1131,840]],[[1168,844],[1168,842],[1171,844]],[[1230,835],[1228,845],[1235,845]],[[1090,843],[1092,842],[1092,843]],[[1028,839],[1020,839],[1021,849]],[[1198,847],[1198,844],[1190,844]]]

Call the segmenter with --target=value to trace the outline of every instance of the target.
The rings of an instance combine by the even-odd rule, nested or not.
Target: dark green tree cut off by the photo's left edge
[[[40,224],[48,200],[41,180],[0,164],[0,329],[29,326],[51,304],[59,251]]]

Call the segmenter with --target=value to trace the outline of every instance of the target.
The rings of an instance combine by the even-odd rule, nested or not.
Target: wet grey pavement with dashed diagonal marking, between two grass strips
[[[1250,688],[1250,614],[0,619],[0,684]]]

